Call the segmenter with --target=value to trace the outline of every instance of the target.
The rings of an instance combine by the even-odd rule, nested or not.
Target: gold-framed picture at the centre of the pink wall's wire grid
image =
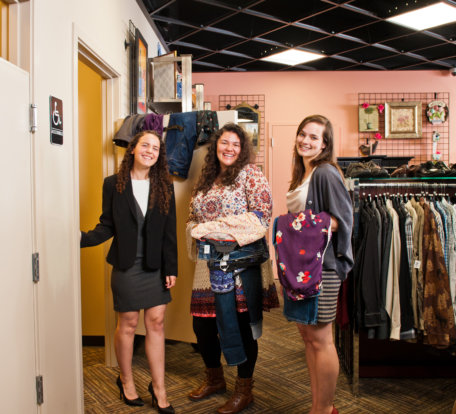
[[[386,102],[385,138],[421,138],[421,102]]]

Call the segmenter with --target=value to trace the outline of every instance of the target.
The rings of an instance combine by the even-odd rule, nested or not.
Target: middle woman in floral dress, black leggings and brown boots
[[[251,163],[253,155],[250,139],[236,124],[226,124],[212,136],[205,166],[193,190],[188,227],[193,228],[200,223],[210,225],[210,222],[215,223],[217,219],[227,216],[255,214],[254,220],[258,223],[255,227],[263,226],[267,229],[272,212],[271,190],[261,170]],[[211,238],[226,239],[226,236],[227,234],[211,232]],[[229,236],[231,239],[236,238],[232,232]],[[220,414],[237,413],[253,401],[252,376],[258,356],[257,339],[261,335],[261,327],[259,330],[251,327],[253,314],[261,315],[262,310],[278,306],[270,266],[270,261],[267,260],[261,266],[245,269],[240,273],[240,277],[235,278],[237,323],[246,360],[237,365],[235,391],[218,409]],[[255,281],[253,286],[258,298],[255,309],[250,305],[252,302],[246,299],[246,292],[249,289],[247,286],[251,286],[252,280]],[[219,311],[220,307],[217,309]],[[196,263],[191,313],[193,330],[206,366],[206,380],[189,394],[191,400],[199,401],[226,390],[221,365],[215,297],[211,290],[207,263],[204,261],[197,260]]]

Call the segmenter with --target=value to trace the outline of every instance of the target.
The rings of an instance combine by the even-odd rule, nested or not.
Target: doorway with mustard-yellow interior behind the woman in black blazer
[[[77,28],[74,33],[75,175],[80,180],[75,200],[80,228],[89,230],[101,214],[103,179],[115,171],[112,137],[120,114],[120,77],[81,39]],[[80,252],[82,335],[94,345],[104,343],[106,365],[117,366],[108,248],[109,242]]]

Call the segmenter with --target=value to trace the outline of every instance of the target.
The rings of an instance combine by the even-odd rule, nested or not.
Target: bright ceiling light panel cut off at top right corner
[[[456,7],[440,2],[386,20],[415,30],[425,30],[456,21]]]

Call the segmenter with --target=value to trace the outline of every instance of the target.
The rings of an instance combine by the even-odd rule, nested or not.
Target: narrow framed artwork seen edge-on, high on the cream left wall
[[[138,28],[135,30],[133,62],[132,113],[145,114],[148,97],[147,43]]]

